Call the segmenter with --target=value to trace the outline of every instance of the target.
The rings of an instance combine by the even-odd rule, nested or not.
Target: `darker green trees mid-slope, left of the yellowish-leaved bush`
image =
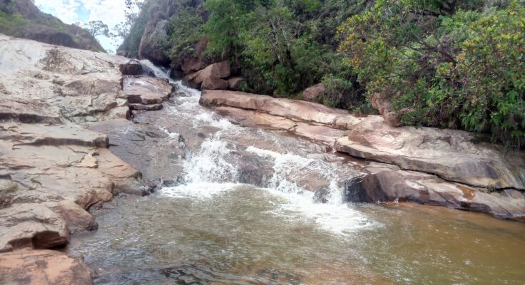
[[[248,91],[300,96],[321,81],[330,86],[324,101],[340,108],[364,104],[363,89],[351,67],[337,57],[335,31],[367,1],[350,0],[179,0],[171,19],[170,51],[174,63],[194,56],[208,38],[208,62],[230,60],[248,79]]]

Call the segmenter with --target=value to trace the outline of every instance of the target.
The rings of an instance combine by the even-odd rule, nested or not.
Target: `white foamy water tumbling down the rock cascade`
[[[243,128],[234,125],[227,118],[217,115],[211,110],[201,107],[198,103],[200,91],[183,86],[180,81],[169,78],[169,71],[154,66],[149,61],[141,63],[150,68],[157,77],[166,78],[170,83],[176,84],[178,91],[186,96],[178,96],[176,105],[168,106],[168,110],[174,113],[187,113],[188,120],[192,120],[193,128],[199,129],[204,126],[218,128],[218,131],[210,135],[200,150],[191,154],[185,161],[185,185],[177,187],[165,187],[160,190],[160,195],[166,197],[191,197],[193,199],[210,199],[216,195],[224,195],[226,192],[241,185],[238,184],[238,163],[235,159],[235,144],[228,143],[226,138],[243,132]],[[161,128],[170,140],[177,140],[178,133],[170,133]],[[259,135],[268,135],[275,145],[278,145],[279,135],[258,130]],[[267,137],[268,137],[267,136]],[[225,138],[225,139],[223,139]],[[359,229],[377,226],[370,222],[364,215],[343,202],[342,188],[337,185],[337,175],[331,166],[322,160],[310,159],[296,155],[292,152],[279,153],[272,150],[264,150],[255,146],[248,146],[247,152],[271,160],[274,173],[270,177],[266,191],[278,197],[279,203],[272,210],[272,214],[285,217],[290,222],[314,222],[321,229],[336,234],[350,234]],[[330,194],[327,195],[327,203],[314,202],[313,192],[305,191],[296,182],[316,172],[330,181]],[[254,190],[257,189],[254,187]]]

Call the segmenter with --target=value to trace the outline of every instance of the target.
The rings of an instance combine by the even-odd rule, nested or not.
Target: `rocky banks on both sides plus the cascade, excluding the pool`
[[[120,56],[0,35],[0,283],[91,284],[80,257],[49,249],[96,230],[91,213],[116,195],[189,182],[525,221],[523,152],[457,130],[394,128],[381,116],[205,90],[200,104],[225,115],[215,118],[197,90],[144,72],[165,77]]]

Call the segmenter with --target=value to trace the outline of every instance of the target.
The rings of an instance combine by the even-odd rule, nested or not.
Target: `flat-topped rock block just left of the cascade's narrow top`
[[[129,103],[160,104],[167,100],[174,88],[160,78],[125,76],[123,91]]]

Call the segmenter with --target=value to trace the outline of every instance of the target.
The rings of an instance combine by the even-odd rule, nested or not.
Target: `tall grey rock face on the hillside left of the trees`
[[[169,58],[165,54],[163,45],[159,42],[160,38],[168,37],[165,31],[168,24],[168,20],[148,21],[144,28],[141,44],[138,46],[139,58],[146,58],[153,63],[168,66]]]

